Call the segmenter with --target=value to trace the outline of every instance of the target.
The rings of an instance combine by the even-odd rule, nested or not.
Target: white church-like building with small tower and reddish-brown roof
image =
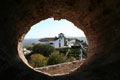
[[[58,34],[58,38],[43,38],[39,40],[40,44],[50,44],[55,48],[64,48],[68,47],[65,45],[65,37],[63,33]]]

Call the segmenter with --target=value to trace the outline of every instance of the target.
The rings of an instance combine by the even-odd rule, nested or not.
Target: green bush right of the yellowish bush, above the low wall
[[[48,57],[48,65],[63,63],[66,62],[66,60],[66,56],[64,56],[62,53],[59,53],[59,51],[54,51]]]

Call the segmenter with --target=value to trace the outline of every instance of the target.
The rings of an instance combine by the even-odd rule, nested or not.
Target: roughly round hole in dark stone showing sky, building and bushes
[[[48,18],[33,25],[26,34],[23,54],[35,70],[65,75],[85,61],[88,42],[84,32],[72,22]]]

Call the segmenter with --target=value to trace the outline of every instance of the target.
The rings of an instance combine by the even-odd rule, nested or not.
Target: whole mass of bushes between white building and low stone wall
[[[26,54],[25,57],[33,67],[74,61],[79,59],[80,55],[80,48],[63,48],[55,50],[53,46],[48,44],[34,44],[32,46],[27,46],[27,49],[32,50],[32,52]]]

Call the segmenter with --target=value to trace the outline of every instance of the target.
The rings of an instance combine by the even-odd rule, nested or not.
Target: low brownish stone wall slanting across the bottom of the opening
[[[61,64],[56,64],[56,65],[50,65],[46,67],[40,67],[40,68],[35,68],[36,70],[42,71],[44,73],[50,74],[50,75],[65,75],[69,74],[75,70],[77,70],[80,65],[84,62],[83,61],[72,61],[72,62],[66,62],[66,63],[61,63]]]

